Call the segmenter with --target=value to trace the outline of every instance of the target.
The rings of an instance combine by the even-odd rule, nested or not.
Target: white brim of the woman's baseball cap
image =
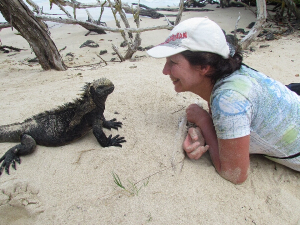
[[[182,51],[187,50],[185,47],[181,47],[175,44],[164,43],[152,47],[151,49],[147,50],[147,54],[154,58],[164,58],[168,57]]]

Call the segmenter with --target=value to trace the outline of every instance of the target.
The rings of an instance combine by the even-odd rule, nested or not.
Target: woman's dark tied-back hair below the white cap
[[[206,51],[190,51],[185,50],[181,54],[191,64],[191,66],[197,68],[202,65],[210,65],[212,71],[206,74],[206,77],[211,79],[211,82],[215,82],[219,78],[224,78],[239,69],[242,62],[242,54],[240,51],[236,51],[234,55],[225,59],[219,54],[206,52]]]

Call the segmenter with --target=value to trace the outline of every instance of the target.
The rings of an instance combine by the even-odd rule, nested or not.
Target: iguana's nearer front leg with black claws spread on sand
[[[109,147],[109,146],[122,147],[120,143],[126,142],[126,140],[124,140],[124,137],[123,136],[119,137],[119,134],[115,135],[112,138],[111,138],[112,136],[111,134],[108,137],[106,137],[105,133],[103,132],[102,126],[103,126],[102,116],[97,115],[96,118],[92,121],[92,132],[96,137],[97,141],[99,142],[99,144],[101,144],[102,147]]]

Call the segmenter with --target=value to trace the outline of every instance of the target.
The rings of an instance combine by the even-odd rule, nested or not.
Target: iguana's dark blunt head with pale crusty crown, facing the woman
[[[101,107],[104,105],[106,97],[114,89],[113,83],[106,78],[96,79],[88,85],[88,93],[90,94],[92,101]]]

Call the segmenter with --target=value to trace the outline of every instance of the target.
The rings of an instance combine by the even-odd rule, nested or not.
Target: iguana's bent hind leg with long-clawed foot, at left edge
[[[31,153],[36,146],[36,142],[30,135],[23,134],[21,136],[21,143],[11,147],[5,154],[0,158],[0,162],[2,162],[0,167],[0,175],[2,173],[3,168],[5,167],[5,172],[9,174],[9,166],[12,165],[12,168],[15,168],[15,162],[17,161],[19,164],[21,160],[19,155],[25,155]]]

